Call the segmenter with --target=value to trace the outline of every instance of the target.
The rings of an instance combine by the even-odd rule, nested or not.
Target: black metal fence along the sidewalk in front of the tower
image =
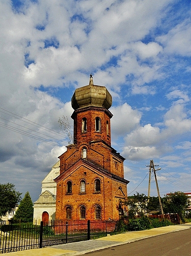
[[[53,221],[40,225],[10,224],[0,227],[0,254],[90,240],[117,233],[118,221]]]

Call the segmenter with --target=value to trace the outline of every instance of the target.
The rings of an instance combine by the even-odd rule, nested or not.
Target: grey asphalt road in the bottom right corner
[[[87,256],[191,256],[191,228],[110,247]]]

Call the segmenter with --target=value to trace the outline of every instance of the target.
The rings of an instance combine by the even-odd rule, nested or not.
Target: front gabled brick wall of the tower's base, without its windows
[[[100,193],[95,192],[94,182],[96,178],[101,181]],[[86,182],[85,193],[80,192],[81,180]],[[71,194],[66,193],[68,181],[72,181]],[[57,186],[56,219],[66,219],[67,206],[72,207],[72,219],[80,219],[80,206],[82,205],[86,208],[86,219],[88,220],[95,219],[96,205],[100,205],[102,208],[102,219],[114,219],[112,182],[108,177],[92,172],[82,166],[64,180],[61,180]],[[117,212],[117,209],[115,211]]]

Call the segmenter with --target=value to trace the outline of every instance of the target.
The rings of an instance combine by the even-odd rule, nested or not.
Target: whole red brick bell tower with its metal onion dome
[[[129,181],[125,159],[111,147],[111,104],[108,90],[94,85],[92,75],[72,96],[74,144],[59,157],[56,219],[118,220],[126,214],[122,202]]]

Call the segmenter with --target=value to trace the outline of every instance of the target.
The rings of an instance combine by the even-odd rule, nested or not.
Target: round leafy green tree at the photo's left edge
[[[0,217],[15,208],[21,201],[21,194],[12,183],[0,184]]]

